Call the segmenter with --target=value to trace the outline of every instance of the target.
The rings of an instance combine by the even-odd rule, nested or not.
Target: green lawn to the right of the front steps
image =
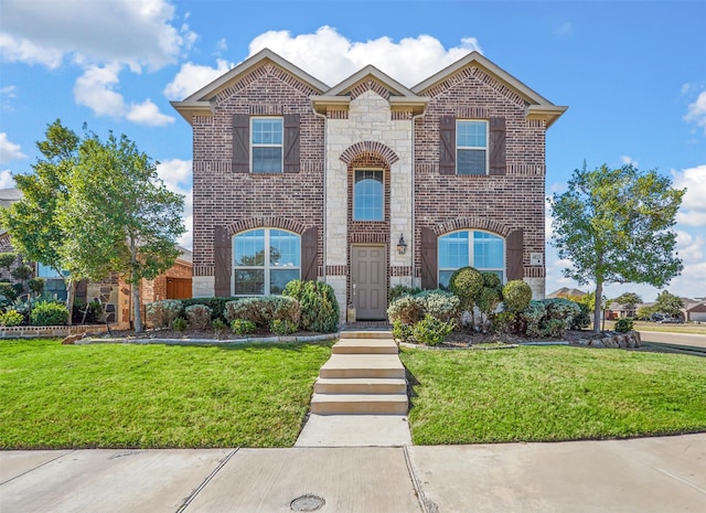
[[[403,350],[400,357],[414,385],[417,445],[706,430],[700,357],[568,346]]]

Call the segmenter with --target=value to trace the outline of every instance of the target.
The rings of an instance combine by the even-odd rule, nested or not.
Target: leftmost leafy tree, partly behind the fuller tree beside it
[[[72,311],[82,276],[62,257],[61,248],[72,234],[60,222],[58,213],[68,195],[68,177],[78,163],[81,138],[60,119],[47,126],[45,137],[36,143],[41,157],[32,165],[33,172],[13,175],[23,197],[0,209],[0,224],[10,232],[18,253],[51,267],[62,277],[66,284],[66,308]]]

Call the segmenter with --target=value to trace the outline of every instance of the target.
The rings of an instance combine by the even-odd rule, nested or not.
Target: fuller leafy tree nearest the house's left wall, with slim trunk
[[[85,138],[68,191],[60,218],[73,236],[62,258],[94,279],[120,272],[131,286],[135,331],[142,331],[140,282],[174,265],[183,196],[167,189],[135,142],[113,133]]]

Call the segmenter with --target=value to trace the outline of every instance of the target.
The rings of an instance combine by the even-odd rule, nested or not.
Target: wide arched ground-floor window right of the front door
[[[464,229],[439,237],[439,287],[447,288],[454,270],[475,267],[505,281],[505,239],[488,232]]]

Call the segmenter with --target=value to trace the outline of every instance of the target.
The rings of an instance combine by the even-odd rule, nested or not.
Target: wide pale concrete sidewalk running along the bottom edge
[[[700,512],[706,434],[438,447],[6,451],[0,511]]]

